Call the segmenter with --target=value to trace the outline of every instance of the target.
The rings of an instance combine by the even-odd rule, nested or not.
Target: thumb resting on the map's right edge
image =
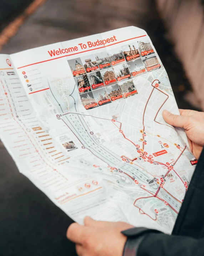
[[[163,119],[169,124],[184,128],[188,123],[188,116],[179,116],[170,113],[168,110],[162,112]]]

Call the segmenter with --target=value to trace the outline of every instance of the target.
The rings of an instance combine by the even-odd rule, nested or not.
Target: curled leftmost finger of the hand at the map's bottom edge
[[[86,227],[78,223],[72,223],[67,229],[67,238],[75,243],[82,244],[85,234]]]

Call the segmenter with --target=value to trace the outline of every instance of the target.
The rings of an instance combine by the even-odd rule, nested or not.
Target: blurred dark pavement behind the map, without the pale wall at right
[[[185,100],[191,87],[166,39],[153,0],[0,0],[0,53],[132,25],[146,30],[151,37],[178,107],[197,110]],[[75,256],[75,247],[65,236],[71,222],[19,173],[0,144],[0,255]]]

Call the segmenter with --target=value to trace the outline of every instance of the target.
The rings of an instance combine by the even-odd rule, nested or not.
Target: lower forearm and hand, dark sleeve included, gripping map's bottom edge
[[[172,236],[124,222],[73,223],[67,238],[76,243],[79,256],[203,256],[204,239]],[[124,230],[126,229],[126,230]]]

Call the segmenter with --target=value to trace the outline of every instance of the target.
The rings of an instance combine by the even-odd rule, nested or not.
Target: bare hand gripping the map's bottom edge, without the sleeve
[[[72,223],[67,238],[76,243],[79,256],[122,256],[126,236],[121,231],[132,228],[125,222],[94,221],[85,217],[85,226]]]

